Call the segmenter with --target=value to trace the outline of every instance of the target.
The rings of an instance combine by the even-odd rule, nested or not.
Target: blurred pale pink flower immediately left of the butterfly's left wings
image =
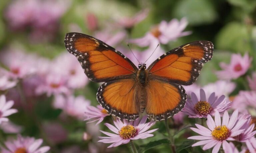
[[[88,78],[85,76],[80,63],[70,53],[62,53],[52,64],[52,71],[67,78],[67,86],[69,88],[83,88],[88,83]]]

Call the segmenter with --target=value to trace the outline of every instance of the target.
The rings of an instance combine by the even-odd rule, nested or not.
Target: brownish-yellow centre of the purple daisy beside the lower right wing
[[[210,114],[212,106],[206,101],[199,101],[195,105],[195,112],[200,115]]]

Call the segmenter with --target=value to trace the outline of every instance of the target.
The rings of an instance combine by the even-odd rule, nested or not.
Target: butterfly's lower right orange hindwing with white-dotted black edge
[[[162,80],[150,80],[146,86],[149,118],[167,119],[177,114],[184,107],[187,95],[184,88],[176,83]]]

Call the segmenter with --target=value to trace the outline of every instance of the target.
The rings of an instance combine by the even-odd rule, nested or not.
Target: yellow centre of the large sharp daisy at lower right
[[[225,125],[217,126],[212,131],[212,137],[216,140],[226,140],[229,136],[229,129]]]

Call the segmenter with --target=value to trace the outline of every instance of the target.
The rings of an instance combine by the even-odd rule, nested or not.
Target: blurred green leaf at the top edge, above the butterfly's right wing
[[[174,17],[186,17],[190,25],[210,24],[217,18],[213,4],[208,0],[181,0],[173,10]]]

